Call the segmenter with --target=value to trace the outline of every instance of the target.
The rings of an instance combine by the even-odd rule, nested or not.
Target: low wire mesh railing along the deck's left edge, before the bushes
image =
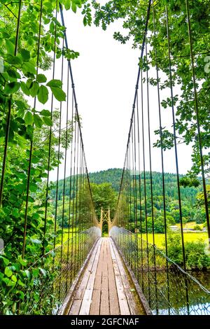
[[[73,280],[99,237],[98,230],[92,227],[79,232],[27,269],[22,299],[18,302],[19,315],[55,315],[59,312]],[[15,299],[13,294],[10,297]]]

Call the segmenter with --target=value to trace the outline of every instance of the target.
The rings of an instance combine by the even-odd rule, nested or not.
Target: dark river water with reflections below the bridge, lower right
[[[210,314],[210,271],[190,272],[186,278],[180,272],[170,270],[157,272],[144,279],[144,295],[148,300],[153,314]],[[157,286],[154,283],[156,276]],[[146,281],[147,280],[147,281]],[[204,288],[202,287],[204,286]]]

